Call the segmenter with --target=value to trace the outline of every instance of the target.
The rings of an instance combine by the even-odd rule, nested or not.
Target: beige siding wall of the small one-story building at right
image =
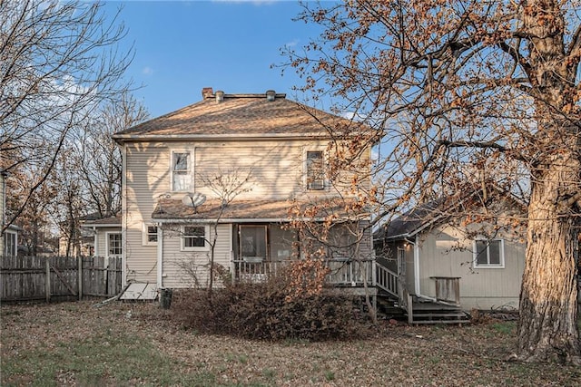
[[[419,251],[421,293],[435,296],[435,281],[430,276],[458,276],[463,308],[517,307],[525,247],[510,235],[498,237],[504,239],[504,268],[474,268],[473,239],[454,227],[425,234]]]

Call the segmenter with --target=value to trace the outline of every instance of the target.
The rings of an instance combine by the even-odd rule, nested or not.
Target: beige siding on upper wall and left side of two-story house
[[[304,189],[306,150],[326,150],[328,143],[310,139],[125,143],[123,237],[127,280],[157,281],[157,247],[143,246],[143,222],[151,221],[157,199],[172,191],[172,151],[190,152],[191,191],[201,192],[207,198],[217,195],[202,183],[202,177],[212,179],[218,174],[236,171],[239,179],[250,176],[249,183],[244,186],[246,192],[236,199],[309,199],[338,195],[336,188]],[[340,180],[350,181],[351,178],[352,173],[348,173]],[[356,192],[345,189],[342,194],[350,196]],[[173,192],[173,197],[179,195],[181,193]],[[164,278],[172,281],[171,272],[166,275]]]

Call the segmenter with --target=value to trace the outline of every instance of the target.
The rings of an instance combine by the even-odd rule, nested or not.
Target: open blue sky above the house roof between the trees
[[[292,21],[297,1],[107,1],[105,10],[120,6],[124,44],[135,48],[127,76],[143,84],[134,96],[152,117],[201,101],[203,87],[273,89],[300,100],[291,91],[296,73],[271,69],[285,60],[282,46],[300,48],[318,35],[317,25]]]

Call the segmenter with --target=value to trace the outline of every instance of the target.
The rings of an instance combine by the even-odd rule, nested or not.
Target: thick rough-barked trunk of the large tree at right
[[[563,151],[548,158],[531,174],[519,357],[581,364],[574,255],[578,241],[576,220],[570,216],[573,205],[567,200],[571,194],[566,194],[579,179],[579,160],[574,152]]]

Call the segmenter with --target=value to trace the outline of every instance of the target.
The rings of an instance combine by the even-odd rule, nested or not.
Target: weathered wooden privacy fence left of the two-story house
[[[2,256],[0,301],[113,296],[122,290],[121,258],[103,256]]]

